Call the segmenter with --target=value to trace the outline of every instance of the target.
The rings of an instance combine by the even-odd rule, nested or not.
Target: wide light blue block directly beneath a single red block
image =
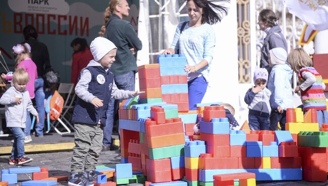
[[[229,134],[230,124],[227,118],[212,118],[211,122],[200,121],[200,132],[209,134]]]

